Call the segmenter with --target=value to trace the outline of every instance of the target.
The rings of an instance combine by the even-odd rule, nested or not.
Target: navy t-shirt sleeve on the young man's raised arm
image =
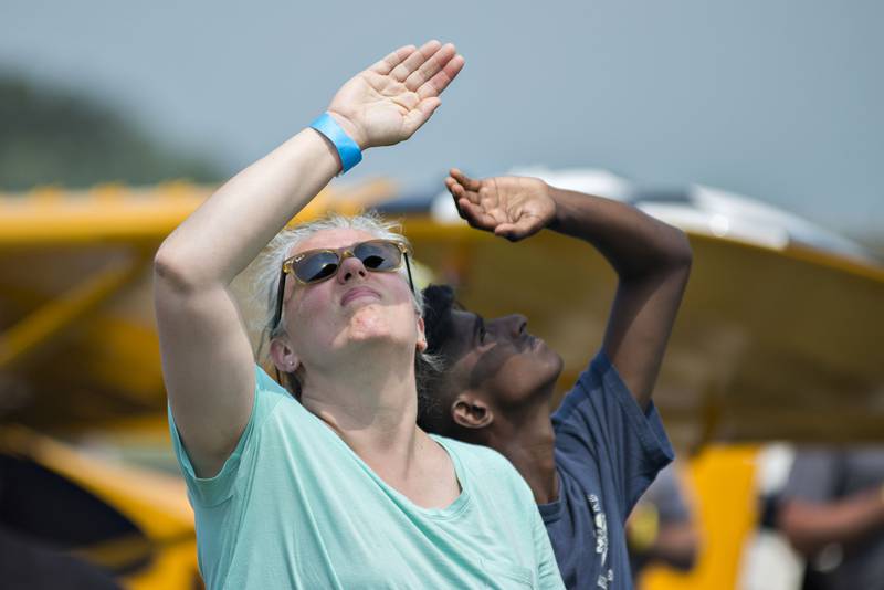
[[[674,457],[653,402],[642,411],[603,350],[552,415],[556,447],[570,465],[594,463],[614,486],[625,519]]]

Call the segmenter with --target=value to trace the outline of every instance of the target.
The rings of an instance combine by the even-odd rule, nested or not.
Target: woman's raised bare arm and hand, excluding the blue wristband
[[[328,112],[362,150],[397,144],[430,118],[462,66],[451,44],[401,48],[341,86]],[[156,254],[164,379],[199,476],[221,468],[254,399],[254,360],[230,283],[340,168],[332,144],[305,129],[221,187]]]

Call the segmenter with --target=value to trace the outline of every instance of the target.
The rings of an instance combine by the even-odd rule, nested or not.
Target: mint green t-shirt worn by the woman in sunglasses
[[[527,484],[496,452],[434,436],[461,495],[421,508],[255,369],[249,424],[197,477],[169,413],[208,588],[564,588]]]

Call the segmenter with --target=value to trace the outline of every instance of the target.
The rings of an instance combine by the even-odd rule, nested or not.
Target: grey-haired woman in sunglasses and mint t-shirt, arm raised
[[[515,470],[415,425],[414,361],[427,343],[397,272],[401,238],[338,218],[284,247],[270,351],[299,401],[255,367],[230,295],[233,277],[361,150],[421,127],[462,66],[436,41],[394,51],[157,253],[169,419],[210,588],[560,588]]]

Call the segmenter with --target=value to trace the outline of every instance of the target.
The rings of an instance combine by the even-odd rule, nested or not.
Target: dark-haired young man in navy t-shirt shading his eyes
[[[446,370],[429,391],[421,424],[491,446],[516,466],[566,586],[629,588],[624,523],[673,457],[651,392],[690,274],[687,240],[632,207],[539,179],[474,180],[454,169],[445,183],[473,228],[511,241],[543,229],[587,241],[619,285],[602,349],[551,421],[562,361],[528,334],[527,320],[486,322],[454,305],[451,288],[424,289],[429,351]]]

